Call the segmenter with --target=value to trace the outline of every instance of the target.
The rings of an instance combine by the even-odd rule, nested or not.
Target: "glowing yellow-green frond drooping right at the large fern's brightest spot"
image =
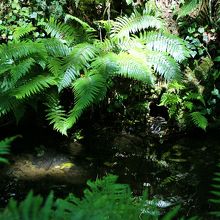
[[[116,72],[116,74],[126,78],[141,80],[152,85],[154,82],[152,70],[147,65],[144,54],[142,54],[142,57],[140,56],[140,53],[138,54],[121,52],[118,55],[119,70]]]

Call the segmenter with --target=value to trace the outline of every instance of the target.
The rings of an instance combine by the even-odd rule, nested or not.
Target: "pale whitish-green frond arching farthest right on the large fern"
[[[144,32],[140,35],[148,49],[170,54],[176,61],[181,62],[189,57],[186,43],[179,37],[162,32]]]

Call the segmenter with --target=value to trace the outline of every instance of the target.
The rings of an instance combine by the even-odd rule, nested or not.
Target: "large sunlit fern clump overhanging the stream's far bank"
[[[50,39],[22,41],[20,37],[31,28],[20,29],[15,37],[20,42],[0,46],[0,114],[56,87],[55,96],[49,92],[43,102],[54,129],[67,134],[86,108],[103,99],[110,77],[132,78],[151,86],[158,74],[167,81],[181,78],[178,62],[188,57],[185,43],[155,31],[163,25],[151,9],[111,23],[110,38],[107,34],[104,42],[94,38],[95,31],[87,23],[70,15],[64,24],[54,19],[46,24]],[[61,106],[58,98],[66,88],[74,94],[74,104],[68,107]]]

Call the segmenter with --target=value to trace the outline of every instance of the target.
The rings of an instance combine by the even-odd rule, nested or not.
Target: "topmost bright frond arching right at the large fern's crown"
[[[124,16],[116,18],[111,30],[111,35],[123,38],[147,28],[161,29],[162,27],[163,23],[159,18],[149,14],[142,15],[135,11],[130,17]]]

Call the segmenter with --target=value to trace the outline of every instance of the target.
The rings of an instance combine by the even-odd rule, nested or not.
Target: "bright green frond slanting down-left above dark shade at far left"
[[[49,88],[51,85],[56,85],[54,77],[38,75],[15,89],[15,91],[12,92],[12,95],[17,99],[24,99]]]

